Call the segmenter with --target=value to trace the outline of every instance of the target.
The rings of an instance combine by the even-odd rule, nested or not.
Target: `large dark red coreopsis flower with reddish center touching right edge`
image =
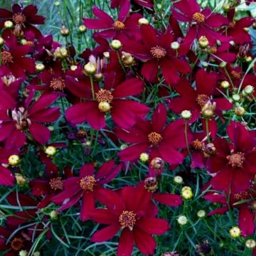
[[[253,133],[238,122],[231,122],[227,132],[231,143],[215,139],[216,153],[208,158],[206,166],[210,174],[215,174],[210,180],[214,189],[239,193],[249,188],[256,174],[256,141]]]

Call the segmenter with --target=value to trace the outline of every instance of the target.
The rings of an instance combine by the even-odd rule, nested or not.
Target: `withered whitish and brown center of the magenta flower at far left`
[[[16,122],[16,129],[23,130],[31,125],[31,120],[28,119],[28,112],[24,107],[18,107],[15,110],[8,110],[7,114]]]

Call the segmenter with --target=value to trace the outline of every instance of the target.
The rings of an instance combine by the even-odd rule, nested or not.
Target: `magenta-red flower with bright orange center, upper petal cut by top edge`
[[[171,11],[178,21],[190,24],[188,33],[191,38],[206,36],[211,46],[215,45],[216,40],[230,41],[228,36],[223,36],[216,31],[216,28],[228,25],[228,18],[215,14],[208,8],[201,10],[196,0],[175,2]]]

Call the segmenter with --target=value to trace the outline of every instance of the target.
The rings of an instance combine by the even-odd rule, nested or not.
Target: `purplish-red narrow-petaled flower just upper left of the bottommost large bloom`
[[[67,178],[63,181],[63,191],[52,198],[53,203],[60,205],[58,212],[68,209],[82,198],[80,220],[88,220],[90,211],[95,208],[95,199],[104,195],[105,183],[110,182],[121,169],[121,165],[114,165],[114,160],[107,161],[95,173],[93,164],[85,164],[79,172],[79,177]]]

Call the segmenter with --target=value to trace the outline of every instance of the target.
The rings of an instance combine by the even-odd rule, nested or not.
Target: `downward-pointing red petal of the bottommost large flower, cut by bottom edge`
[[[134,247],[134,238],[132,231],[124,228],[119,238],[119,245],[117,249],[117,256],[131,256]]]

